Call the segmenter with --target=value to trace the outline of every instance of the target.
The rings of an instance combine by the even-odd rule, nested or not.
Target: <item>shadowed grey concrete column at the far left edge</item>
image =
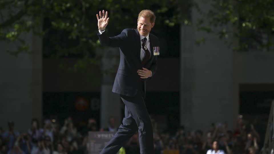
[[[16,46],[0,42],[0,123],[7,129],[7,122],[14,121],[15,129],[26,132],[32,118],[42,119],[42,39],[32,32],[21,37],[32,54],[15,57],[6,51]]]

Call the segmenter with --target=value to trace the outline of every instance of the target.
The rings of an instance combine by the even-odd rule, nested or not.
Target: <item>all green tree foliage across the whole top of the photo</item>
[[[13,55],[29,52],[29,44],[21,34],[33,32],[43,37],[46,56],[69,55],[94,57],[98,47],[96,36],[98,11],[109,13],[107,31],[117,35],[124,28],[136,27],[137,15],[142,9],[156,13],[156,25],[161,29],[176,24],[191,25],[190,10],[199,6],[194,1],[180,0],[0,0],[0,40],[17,46]],[[234,50],[273,50],[273,0],[212,0],[212,9],[198,23],[198,30],[212,33],[215,27],[224,27],[216,33]],[[200,6],[201,7],[201,6]],[[41,30],[41,27],[43,29]],[[227,27],[227,28],[225,28]],[[232,28],[231,28],[232,27]],[[228,39],[232,38],[232,39]],[[196,40],[206,41],[205,38]],[[235,43],[236,42],[236,43]],[[93,60],[91,60],[94,62]],[[84,66],[79,64],[79,66]]]

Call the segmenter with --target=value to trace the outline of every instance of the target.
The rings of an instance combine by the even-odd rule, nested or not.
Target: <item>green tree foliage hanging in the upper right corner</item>
[[[236,51],[273,51],[273,0],[211,0],[210,3],[208,12],[200,11],[206,16],[197,23],[199,30],[212,33],[215,27],[223,27],[216,34]]]

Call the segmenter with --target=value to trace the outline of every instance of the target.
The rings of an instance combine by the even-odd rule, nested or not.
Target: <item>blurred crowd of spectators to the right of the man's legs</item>
[[[154,135],[156,154],[258,154],[261,137],[253,124],[239,118],[235,130],[225,123],[212,123],[211,129],[188,130],[180,127],[175,135]]]

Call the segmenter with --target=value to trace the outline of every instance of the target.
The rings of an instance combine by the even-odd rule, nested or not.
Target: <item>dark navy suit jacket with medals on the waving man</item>
[[[153,47],[159,46],[159,40],[155,35],[149,34],[150,39],[150,60],[146,64],[141,62],[141,40],[137,29],[124,29],[121,34],[115,37],[108,37],[104,32],[98,33],[100,43],[103,46],[120,48],[120,64],[114,80],[112,92],[135,96],[138,90],[146,93],[146,82],[157,70],[157,56],[153,55]],[[146,79],[140,78],[137,70],[147,68],[152,76]]]

